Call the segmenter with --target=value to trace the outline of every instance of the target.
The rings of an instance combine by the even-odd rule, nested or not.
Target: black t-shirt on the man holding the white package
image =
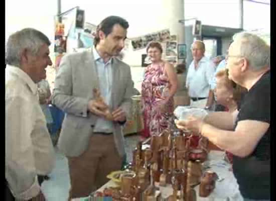
[[[250,88],[244,96],[237,122],[255,120],[270,124],[270,71]],[[269,199],[270,197],[270,127],[249,156],[233,156],[233,173],[243,197]],[[250,138],[250,133],[248,133]],[[246,143],[244,144],[246,146]]]

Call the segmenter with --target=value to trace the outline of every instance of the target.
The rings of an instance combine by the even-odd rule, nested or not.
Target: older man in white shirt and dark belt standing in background
[[[204,108],[204,106],[205,108],[210,108],[213,103],[213,97],[209,97],[209,90],[215,66],[212,61],[204,56],[205,45],[202,41],[194,41],[191,50],[193,61],[188,69],[186,87],[188,88],[189,96],[194,102],[192,105],[199,108]]]

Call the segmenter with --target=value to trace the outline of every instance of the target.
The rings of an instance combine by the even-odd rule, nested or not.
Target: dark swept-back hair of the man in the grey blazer
[[[109,17],[105,18],[97,26],[96,36],[94,38],[94,45],[97,45],[100,41],[99,31],[102,31],[105,34],[105,36],[107,36],[108,34],[110,34],[112,32],[113,26],[116,24],[122,26],[124,29],[127,29],[129,27],[128,22],[121,17],[109,16]]]

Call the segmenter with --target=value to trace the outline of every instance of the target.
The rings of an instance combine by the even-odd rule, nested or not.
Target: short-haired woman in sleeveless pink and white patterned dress
[[[145,69],[142,82],[142,114],[144,138],[158,135],[173,123],[177,75],[172,64],[162,60],[162,46],[152,42],[147,47],[152,64]]]

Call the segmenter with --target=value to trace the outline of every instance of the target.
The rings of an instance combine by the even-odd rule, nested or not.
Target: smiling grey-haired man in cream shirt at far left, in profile
[[[36,84],[52,65],[49,45],[47,36],[30,28],[12,34],[7,43],[5,177],[11,200],[45,200],[38,175],[54,167],[54,147]]]

